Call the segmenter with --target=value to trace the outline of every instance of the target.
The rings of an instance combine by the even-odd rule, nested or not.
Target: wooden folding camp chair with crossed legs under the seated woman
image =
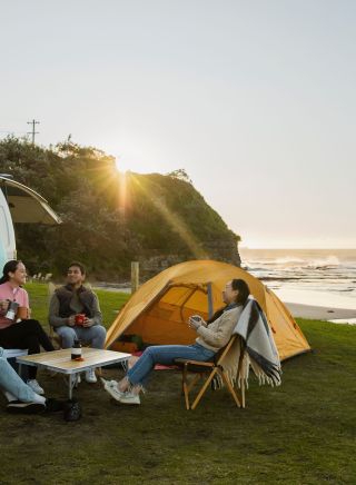
[[[216,375],[219,375],[226,385],[227,389],[231,394],[237,407],[245,407],[245,386],[244,386],[244,379],[241,379],[240,383],[240,398],[237,397],[236,392],[234,389],[234,384],[230,382],[229,376],[227,375],[226,370],[224,370],[222,367],[222,360],[226,354],[231,348],[234,342],[238,338],[237,335],[233,335],[228,344],[222,347],[215,356],[212,362],[199,362],[199,360],[187,360],[184,358],[176,358],[175,364],[177,364],[179,367],[181,367],[181,384],[182,384],[182,393],[185,395],[186,400],[186,408],[187,409],[195,409],[201,399],[204,393],[207,390],[209,384],[214,379]],[[244,360],[244,350],[243,345],[240,344],[240,358],[238,363],[238,374],[243,365]],[[195,374],[191,382],[188,382],[188,374]],[[204,383],[201,389],[197,394],[194,403],[190,405],[189,402],[189,393],[192,389],[192,387],[197,384],[197,382],[202,378],[204,374],[208,374],[208,377],[206,382]]]

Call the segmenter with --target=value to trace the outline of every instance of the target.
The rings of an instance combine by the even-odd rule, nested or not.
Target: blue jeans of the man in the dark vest
[[[70,348],[73,346],[75,340],[79,338],[82,342],[89,342],[92,348],[103,348],[107,330],[101,325],[93,325],[92,327],[55,327],[55,330],[62,338],[62,347]]]

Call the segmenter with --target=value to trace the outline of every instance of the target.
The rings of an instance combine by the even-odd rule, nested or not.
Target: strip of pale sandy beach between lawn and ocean
[[[356,321],[356,309],[322,307],[313,305],[301,305],[285,301],[286,307],[296,318],[310,318],[316,320],[343,320],[343,323]],[[342,323],[342,321],[340,321]]]

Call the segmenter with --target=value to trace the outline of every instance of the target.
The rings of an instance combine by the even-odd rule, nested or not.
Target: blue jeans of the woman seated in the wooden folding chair
[[[141,357],[127,373],[129,382],[136,386],[145,387],[147,378],[156,364],[166,366],[174,365],[175,358],[186,358],[206,362],[214,356],[214,352],[202,347],[202,345],[154,345],[148,347]]]

